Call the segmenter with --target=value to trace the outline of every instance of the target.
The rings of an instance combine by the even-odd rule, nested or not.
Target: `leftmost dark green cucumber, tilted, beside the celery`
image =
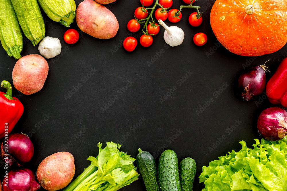
[[[139,149],[137,154],[137,168],[144,179],[147,191],[158,191],[158,169],[154,157],[147,151]]]

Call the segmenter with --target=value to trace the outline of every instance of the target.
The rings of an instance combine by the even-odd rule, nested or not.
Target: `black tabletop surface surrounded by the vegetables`
[[[80,2],[76,0],[76,5]],[[133,52],[117,46],[121,46],[119,43],[131,35],[139,42],[142,33],[131,34],[127,30],[127,22],[133,19],[134,10],[140,7],[139,0],[117,0],[106,5],[119,21],[119,31],[114,38],[100,40],[80,33],[81,38],[73,46],[63,40],[67,28],[49,19],[42,11],[46,36],[60,39],[62,53],[54,59],[47,59],[49,73],[42,90],[32,95],[21,95],[13,89],[13,96],[20,97],[24,105],[24,113],[12,133],[26,133],[35,147],[34,157],[26,167],[36,172],[45,157],[65,150],[75,158],[77,177],[90,164],[86,159],[98,154],[98,142],[118,143],[126,137],[126,140],[121,141],[121,150],[133,157],[136,157],[137,149],[141,148],[152,153],[158,161],[159,156],[155,153],[160,154],[161,147],[165,145],[166,149],[177,153],[179,162],[185,157],[192,157],[197,163],[193,190],[201,190],[204,184],[198,183],[198,176],[202,166],[208,166],[209,162],[232,149],[238,151],[241,149],[241,140],[251,147],[255,143],[253,139],[262,138],[256,128],[257,117],[263,109],[272,105],[264,99],[265,96],[262,100],[257,98],[257,102],[243,101],[236,92],[237,79],[246,63],[252,67],[271,59],[266,64],[271,71],[271,74],[266,75],[268,80],[286,57],[287,48],[285,46],[276,53],[253,58],[230,53],[223,46],[211,50],[216,49],[214,46],[218,43],[210,27],[213,3],[214,0],[198,0],[194,3],[201,6],[204,12],[203,23],[199,27],[191,27],[188,23],[188,16],[194,9],[183,9],[179,23],[166,21],[168,26],[176,25],[185,32],[180,46],[166,46],[164,29],[161,27],[160,33],[154,36],[152,46],[144,48],[138,43]],[[172,8],[179,9],[180,5],[184,5],[183,1],[174,0]],[[75,21],[70,28],[79,30]],[[197,32],[204,32],[208,36],[207,44],[202,47],[192,41]],[[161,49],[164,49],[164,53],[156,57]],[[211,54],[207,56],[207,52]],[[28,54],[39,54],[38,45],[33,47],[31,42],[24,39],[21,55]],[[155,58],[155,62],[149,66],[147,62],[151,61],[151,57]],[[12,82],[11,74],[16,61],[0,48],[1,80]],[[81,79],[90,73],[91,68],[95,68],[96,73],[83,83]],[[186,71],[192,72],[191,77],[179,86],[177,80],[185,76]],[[118,90],[121,91],[128,80],[133,82],[132,86],[120,95]],[[65,99],[78,83],[82,86]],[[229,86],[219,95],[216,91],[221,91],[223,83]],[[164,94],[173,86],[177,86],[177,90],[161,103],[160,98],[164,98]],[[102,112],[101,107],[115,95],[119,99]],[[205,101],[210,98],[214,101],[206,108]],[[197,115],[196,110],[201,106],[206,109]],[[51,117],[42,121],[45,114]],[[140,117],[146,121],[133,132],[130,126],[136,125]],[[241,124],[228,135],[226,129],[232,127],[236,120],[241,121]],[[36,126],[41,121],[45,123]],[[82,126],[86,130],[80,134]],[[175,135],[177,130],[182,133],[171,140],[169,137]],[[72,137],[77,133],[80,135],[78,138]],[[125,136],[127,134],[130,136]],[[210,150],[222,135],[226,135],[226,139]],[[67,146],[68,143],[70,145]],[[3,172],[3,162],[0,166]],[[123,189],[145,190],[141,178]]]

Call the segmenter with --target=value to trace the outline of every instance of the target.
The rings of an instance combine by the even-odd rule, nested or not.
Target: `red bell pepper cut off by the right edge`
[[[278,66],[266,85],[266,95],[272,104],[287,107],[287,58]]]

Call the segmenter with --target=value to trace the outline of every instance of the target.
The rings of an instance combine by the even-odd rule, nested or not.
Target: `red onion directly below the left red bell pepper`
[[[8,140],[4,139],[1,144],[1,156],[5,162],[8,162],[8,167],[13,164],[17,166],[24,165],[32,159],[33,155],[33,143],[25,134],[11,134],[9,135]]]

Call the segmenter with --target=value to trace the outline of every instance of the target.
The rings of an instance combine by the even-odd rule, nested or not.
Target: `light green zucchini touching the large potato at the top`
[[[74,0],[38,0],[40,6],[50,19],[66,27],[73,23],[76,16]]]

